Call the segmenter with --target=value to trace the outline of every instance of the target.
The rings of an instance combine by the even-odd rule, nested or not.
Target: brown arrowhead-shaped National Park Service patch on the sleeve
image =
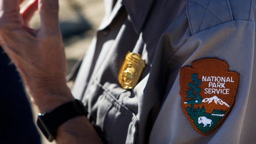
[[[195,130],[208,135],[234,105],[239,74],[226,61],[204,58],[180,69],[182,109]]]

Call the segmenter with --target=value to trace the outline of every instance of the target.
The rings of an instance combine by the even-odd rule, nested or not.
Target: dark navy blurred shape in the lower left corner
[[[0,143],[40,144],[20,75],[1,47],[0,91]]]

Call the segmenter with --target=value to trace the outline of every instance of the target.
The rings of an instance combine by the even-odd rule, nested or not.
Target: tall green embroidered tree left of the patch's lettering
[[[186,104],[190,104],[190,116],[194,116],[194,104],[200,104],[202,102],[202,98],[199,95],[199,92],[202,91],[199,86],[201,85],[201,80],[198,80],[198,74],[191,74],[192,82],[188,83],[188,91],[186,91],[187,97],[191,98],[190,100],[185,101]]]

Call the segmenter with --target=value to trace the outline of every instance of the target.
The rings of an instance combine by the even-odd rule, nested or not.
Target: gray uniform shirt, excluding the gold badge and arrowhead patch
[[[249,144],[256,142],[255,2],[252,0],[105,0],[106,15],[84,56],[72,93],[110,144]],[[125,90],[126,53],[146,61]],[[240,74],[232,110],[207,136],[182,111],[180,68],[225,60]]]

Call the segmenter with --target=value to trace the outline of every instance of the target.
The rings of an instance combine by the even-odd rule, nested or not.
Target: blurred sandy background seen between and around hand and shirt
[[[28,1],[26,0],[26,2]],[[104,5],[103,0],[59,0],[59,4],[60,28],[68,61],[67,74],[69,74],[76,61],[86,52],[95,29],[100,25],[104,15]],[[30,26],[32,28],[40,27],[37,12],[32,18]],[[68,86],[71,88],[72,82],[68,83]],[[28,99],[30,100],[30,98]],[[36,123],[38,110],[34,104],[31,104],[31,107]],[[39,133],[41,134],[41,132]],[[48,142],[42,134],[41,139],[42,144],[56,144]]]

